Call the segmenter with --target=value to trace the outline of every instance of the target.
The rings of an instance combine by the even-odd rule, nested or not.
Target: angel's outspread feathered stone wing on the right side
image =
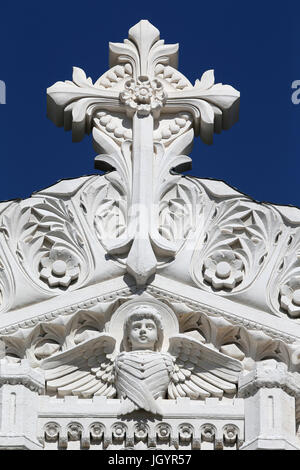
[[[214,351],[199,341],[179,334],[169,339],[169,353],[175,358],[168,395],[189,397],[232,396],[242,370],[241,363]]]

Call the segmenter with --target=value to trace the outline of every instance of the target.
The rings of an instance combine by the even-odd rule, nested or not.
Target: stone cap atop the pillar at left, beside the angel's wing
[[[0,387],[3,385],[23,385],[38,394],[45,391],[43,375],[32,369],[26,359],[18,364],[9,364],[4,359],[0,360]]]

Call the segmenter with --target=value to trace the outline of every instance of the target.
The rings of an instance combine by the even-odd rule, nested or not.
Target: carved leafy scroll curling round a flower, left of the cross
[[[44,198],[30,206],[14,205],[1,222],[11,252],[40,288],[59,293],[87,278],[91,266],[84,236],[64,201]]]

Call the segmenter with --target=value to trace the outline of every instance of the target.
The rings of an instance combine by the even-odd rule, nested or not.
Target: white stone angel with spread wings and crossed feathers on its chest
[[[48,393],[121,399],[120,414],[143,409],[162,415],[158,398],[232,396],[241,363],[201,342],[177,334],[161,351],[163,324],[158,311],[138,306],[124,322],[121,352],[106,333],[43,361]]]

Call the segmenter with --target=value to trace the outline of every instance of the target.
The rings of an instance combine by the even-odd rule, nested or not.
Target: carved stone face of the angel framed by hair
[[[158,340],[157,327],[151,318],[140,318],[131,323],[128,331],[128,342],[133,351],[155,349]]]

